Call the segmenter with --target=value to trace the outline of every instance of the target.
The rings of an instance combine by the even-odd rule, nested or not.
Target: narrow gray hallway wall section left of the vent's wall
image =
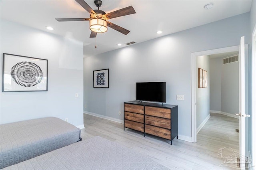
[[[210,110],[221,111],[221,58],[210,59]]]

